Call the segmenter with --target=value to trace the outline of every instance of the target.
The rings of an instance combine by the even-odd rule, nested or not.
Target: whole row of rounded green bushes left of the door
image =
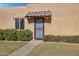
[[[0,30],[0,40],[7,41],[30,41],[32,32],[30,30]]]

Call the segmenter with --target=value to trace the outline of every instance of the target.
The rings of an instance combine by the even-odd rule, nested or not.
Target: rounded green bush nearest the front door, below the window
[[[20,41],[30,41],[32,39],[32,32],[30,30],[20,30],[17,32],[17,39]]]

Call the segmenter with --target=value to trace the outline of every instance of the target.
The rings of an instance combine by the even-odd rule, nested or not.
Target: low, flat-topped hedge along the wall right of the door
[[[55,36],[46,35],[44,37],[45,42],[69,42],[69,43],[79,43],[79,36]]]

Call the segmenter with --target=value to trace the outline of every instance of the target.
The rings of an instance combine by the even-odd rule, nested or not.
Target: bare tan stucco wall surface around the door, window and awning
[[[29,4],[0,9],[0,28],[14,28],[13,16],[29,11],[51,10],[51,23],[44,23],[45,35],[79,35],[79,4]],[[34,32],[34,23],[25,18],[25,29]]]

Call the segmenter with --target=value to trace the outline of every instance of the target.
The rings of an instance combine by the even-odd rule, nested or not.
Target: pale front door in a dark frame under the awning
[[[35,19],[35,39],[44,38],[44,19],[36,18]]]

